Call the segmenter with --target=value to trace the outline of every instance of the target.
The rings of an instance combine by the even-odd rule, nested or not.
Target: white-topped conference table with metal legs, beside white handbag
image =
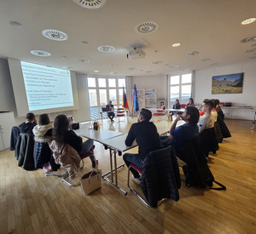
[[[110,184],[114,185],[119,191],[122,191],[127,195],[127,191],[122,189],[118,184],[118,169],[125,166],[125,163],[117,166],[116,156],[122,155],[123,152],[130,150],[133,147],[137,146],[136,141],[133,142],[131,146],[125,146],[125,139],[127,134],[114,132],[111,130],[100,129],[94,130],[91,128],[81,127],[77,130],[74,130],[79,136],[84,136],[88,139],[95,140],[105,146],[105,149],[109,149],[110,157],[110,171],[102,175],[102,179],[108,181]],[[113,173],[115,173],[115,180],[113,180]],[[111,180],[108,178],[108,174],[111,174]]]

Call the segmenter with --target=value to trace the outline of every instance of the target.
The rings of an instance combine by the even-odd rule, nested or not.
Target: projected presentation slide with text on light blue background
[[[73,106],[70,71],[20,61],[29,111]]]

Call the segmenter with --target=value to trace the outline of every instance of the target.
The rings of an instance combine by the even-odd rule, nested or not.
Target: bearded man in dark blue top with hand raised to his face
[[[177,121],[179,121],[181,117],[185,123],[176,128]],[[161,143],[164,146],[172,145],[178,154],[185,143],[199,134],[197,126],[198,119],[199,111],[194,106],[186,107],[183,114],[177,115],[174,123],[172,123],[170,129],[171,135],[160,137]]]

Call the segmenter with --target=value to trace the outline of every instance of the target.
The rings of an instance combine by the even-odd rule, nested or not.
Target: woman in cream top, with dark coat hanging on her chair
[[[48,143],[51,141],[52,136],[52,122],[49,121],[49,116],[43,114],[38,119],[38,125],[36,125],[32,132],[34,134],[35,147],[34,147],[34,159],[35,168],[44,168],[46,172],[49,171],[49,162],[51,158],[51,150]],[[56,165],[51,165],[52,168]]]

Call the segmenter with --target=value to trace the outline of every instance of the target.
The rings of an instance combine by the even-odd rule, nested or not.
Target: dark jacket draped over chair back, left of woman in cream
[[[34,170],[34,135],[20,134],[17,140],[15,155],[18,160],[18,166],[26,170]]]

